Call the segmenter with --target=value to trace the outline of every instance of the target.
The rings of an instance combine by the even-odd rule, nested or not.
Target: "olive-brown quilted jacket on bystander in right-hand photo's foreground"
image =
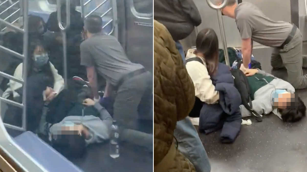
[[[195,101],[175,42],[163,24],[154,20],[154,171],[194,172],[192,163],[176,148],[177,121],[188,116]]]

